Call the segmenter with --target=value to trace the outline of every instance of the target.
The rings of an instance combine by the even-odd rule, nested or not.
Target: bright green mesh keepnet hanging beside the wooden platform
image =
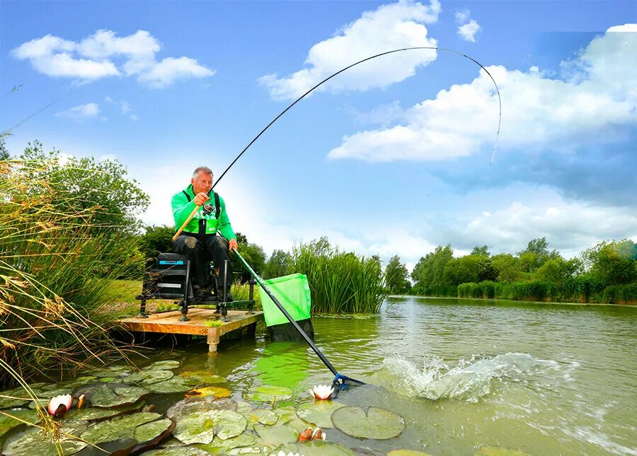
[[[311,297],[307,276],[304,274],[292,274],[264,280],[263,283],[294,320],[305,320],[310,317]],[[261,298],[263,316],[265,317],[265,325],[272,326],[288,323],[283,312],[277,308],[268,293],[265,293],[261,287],[259,287],[259,296]]]

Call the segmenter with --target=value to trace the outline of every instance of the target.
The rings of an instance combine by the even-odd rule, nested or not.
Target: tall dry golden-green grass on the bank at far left
[[[77,209],[50,185],[57,166],[0,161],[0,387],[119,351],[100,279],[127,274],[137,259],[117,227],[93,223],[99,206]]]

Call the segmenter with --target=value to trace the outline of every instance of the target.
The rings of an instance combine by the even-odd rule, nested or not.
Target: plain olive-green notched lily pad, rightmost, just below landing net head
[[[400,415],[377,407],[369,407],[367,413],[360,407],[341,407],[332,414],[332,422],[353,437],[378,440],[396,437],[405,429]]]

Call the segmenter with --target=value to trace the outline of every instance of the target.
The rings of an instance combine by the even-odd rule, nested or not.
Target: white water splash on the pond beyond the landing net
[[[555,361],[539,360],[527,353],[506,353],[478,361],[472,357],[454,367],[438,357],[425,358],[422,370],[406,359],[386,358],[374,380],[412,397],[476,402],[491,391],[494,382],[527,382],[532,375],[557,368]]]

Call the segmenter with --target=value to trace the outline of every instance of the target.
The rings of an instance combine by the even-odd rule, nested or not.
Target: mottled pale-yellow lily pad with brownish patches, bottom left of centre
[[[236,437],[246,430],[247,423],[236,411],[195,411],[177,422],[173,435],[183,443],[211,443],[215,435],[222,440]]]

